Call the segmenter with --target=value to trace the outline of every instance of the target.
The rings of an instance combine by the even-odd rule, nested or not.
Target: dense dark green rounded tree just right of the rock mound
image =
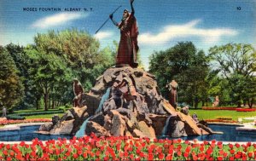
[[[166,95],[166,83],[175,79],[179,84],[178,100],[198,106],[207,95],[205,79],[209,60],[191,42],[177,43],[166,51],[154,52],[150,57],[149,72],[154,73],[161,91]]]

